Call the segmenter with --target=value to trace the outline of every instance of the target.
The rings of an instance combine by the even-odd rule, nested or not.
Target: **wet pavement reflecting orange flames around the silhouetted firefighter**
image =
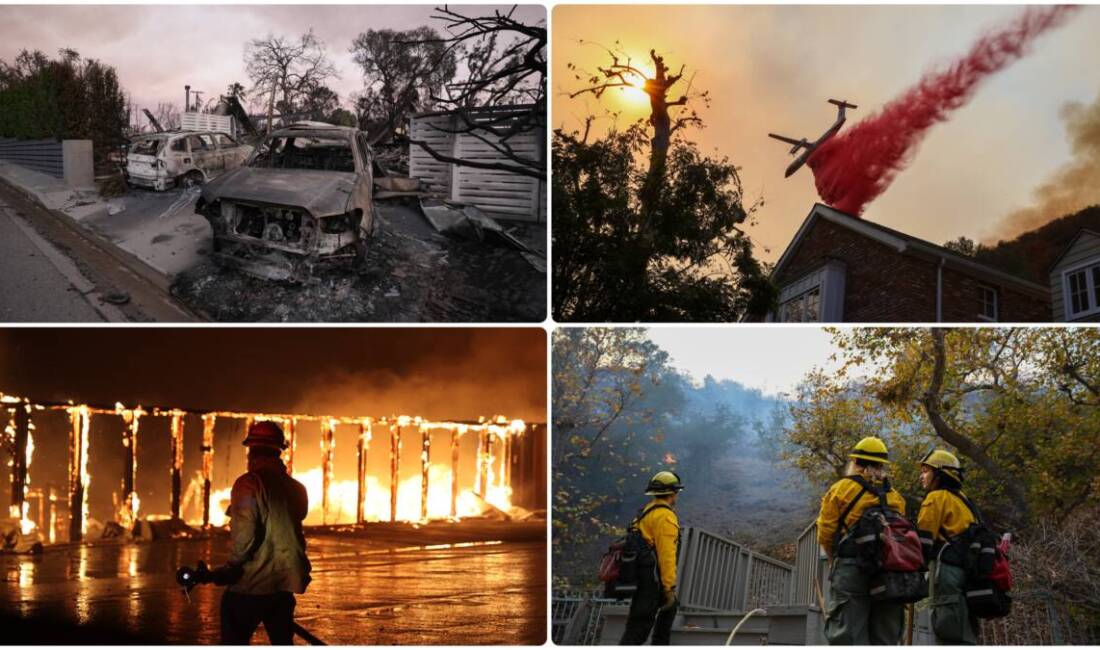
[[[297,623],[330,645],[546,641],[543,542],[395,542],[309,535],[314,580],[298,596]],[[0,612],[81,626],[89,631],[78,642],[217,643],[221,587],[199,586],[188,603],[175,572],[200,559],[220,564],[227,547],[219,536],[0,555]],[[266,642],[262,628],[253,642]]]

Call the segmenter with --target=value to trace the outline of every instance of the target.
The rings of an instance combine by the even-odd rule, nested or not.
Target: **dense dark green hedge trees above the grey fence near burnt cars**
[[[0,62],[0,136],[91,140],[97,163],[125,143],[127,100],[114,68],[73,49]]]

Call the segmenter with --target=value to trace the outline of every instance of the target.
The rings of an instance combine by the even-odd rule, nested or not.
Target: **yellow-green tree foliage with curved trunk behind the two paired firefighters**
[[[1096,329],[860,328],[834,342],[846,372],[811,375],[791,409],[794,459],[818,481],[873,433],[891,445],[895,485],[911,496],[921,495],[924,452],[956,452],[967,492],[999,526],[1064,521],[1100,503]],[[855,368],[866,374],[858,384],[846,379]]]

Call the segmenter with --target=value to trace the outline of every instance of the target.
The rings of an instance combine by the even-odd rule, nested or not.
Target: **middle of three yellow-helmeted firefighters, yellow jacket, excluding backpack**
[[[905,514],[905,500],[887,481],[890,456],[882,440],[864,438],[848,454],[845,477],[822,497],[817,516],[817,543],[828,557],[829,590],[825,638],[833,646],[897,646],[901,641],[904,606],[873,602],[871,574],[859,559],[859,543],[851,527],[867,508],[887,506]]]

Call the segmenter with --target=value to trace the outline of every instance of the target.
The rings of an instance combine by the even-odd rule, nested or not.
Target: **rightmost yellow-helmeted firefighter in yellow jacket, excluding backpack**
[[[975,522],[963,494],[963,466],[949,451],[937,449],[921,461],[921,503],[916,527],[928,562],[932,630],[936,642],[950,646],[978,642],[978,620],[966,603],[966,549],[952,540]]]

